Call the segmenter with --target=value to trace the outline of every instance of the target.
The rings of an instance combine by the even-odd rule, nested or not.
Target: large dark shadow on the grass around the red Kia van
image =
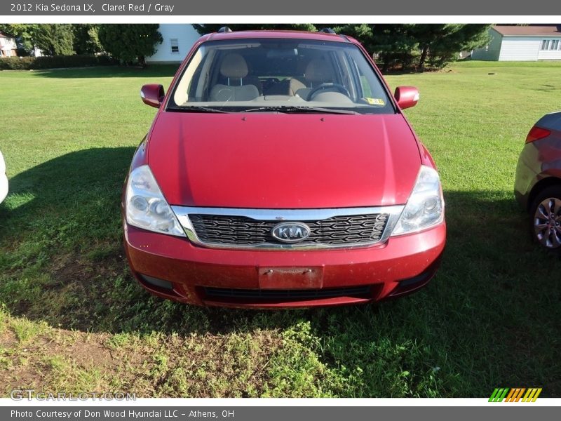
[[[521,382],[547,385],[544,396],[561,394],[555,380],[561,378],[561,262],[529,240],[527,216],[510,193],[445,192],[442,267],[408,298],[379,307],[206,309],[151,297],[130,276],[121,248],[120,194],[133,152],[72,152],[10,180],[11,193],[0,206],[6,311],[109,333],[222,335],[307,323],[326,366],[351,370],[356,396],[376,396],[377,390],[388,396],[387,385],[375,383],[384,370],[401,370],[404,379],[421,373],[403,387],[437,384],[446,372],[444,394],[456,396]],[[399,396],[412,393],[398,389]]]

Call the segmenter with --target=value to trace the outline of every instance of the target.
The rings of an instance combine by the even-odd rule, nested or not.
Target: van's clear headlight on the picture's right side
[[[437,225],[444,219],[444,199],[438,173],[421,166],[417,181],[391,235],[409,234]]]

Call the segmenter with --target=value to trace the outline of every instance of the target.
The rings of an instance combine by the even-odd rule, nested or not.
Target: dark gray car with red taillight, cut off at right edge
[[[534,239],[561,252],[561,112],[546,114],[529,131],[514,194],[532,216]]]

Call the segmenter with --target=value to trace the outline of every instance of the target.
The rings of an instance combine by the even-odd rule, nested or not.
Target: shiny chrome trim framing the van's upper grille
[[[377,206],[367,208],[327,208],[327,209],[251,209],[251,208],[199,208],[190,206],[171,206],[173,212],[180,221],[187,237],[198,246],[208,248],[227,248],[236,250],[314,250],[333,248],[358,248],[368,247],[374,244],[384,243],[395,227],[396,222],[403,211],[404,206]],[[283,222],[283,221],[321,221],[337,217],[349,217],[360,215],[387,214],[388,218],[379,239],[375,241],[360,241],[358,243],[272,243],[259,244],[234,244],[234,243],[211,243],[202,241],[196,234],[189,215],[216,215],[224,217],[243,217],[257,221]]]

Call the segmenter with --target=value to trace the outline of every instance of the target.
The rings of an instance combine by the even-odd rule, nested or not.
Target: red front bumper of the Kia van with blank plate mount
[[[339,250],[222,250],[124,223],[137,281],[151,293],[194,305],[314,307],[411,293],[433,277],[446,226]]]

